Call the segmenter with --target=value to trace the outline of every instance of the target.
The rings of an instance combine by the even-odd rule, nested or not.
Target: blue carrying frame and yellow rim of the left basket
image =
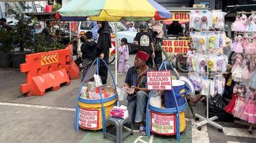
[[[109,70],[109,73],[111,75],[111,79],[113,81],[114,88],[116,89],[114,76],[111,73],[111,70],[110,70],[108,64],[106,64],[106,61],[104,61],[103,59],[100,59],[100,58],[95,59],[95,61],[93,61],[93,64],[91,64],[90,68],[88,69],[88,71],[86,73],[86,76],[83,78],[83,82],[82,82],[81,87],[79,88],[79,91],[78,91],[78,99],[76,101],[76,119],[75,119],[75,129],[76,129],[76,131],[80,127],[80,124],[79,124],[79,122],[80,122],[79,117],[80,116],[79,116],[79,114],[80,114],[80,110],[83,109],[83,108],[80,107],[81,104],[83,104],[83,106],[86,106],[88,108],[90,108],[90,107],[99,108],[98,110],[100,110],[101,115],[99,114],[100,117],[98,117],[98,120],[101,120],[101,121],[99,121],[99,124],[101,124],[101,125],[100,125],[100,127],[98,126],[95,129],[103,129],[104,134],[106,133],[106,112],[107,112],[107,115],[108,115],[111,107],[114,107],[114,104],[116,104],[117,94],[114,94],[113,96],[111,96],[109,98],[103,99],[103,94],[101,92],[101,87],[99,87],[99,97],[100,97],[100,99],[93,100],[93,99],[84,99],[84,98],[80,97],[83,84],[85,84],[88,73],[91,71],[94,64],[96,64],[96,74],[99,74],[100,61]]]

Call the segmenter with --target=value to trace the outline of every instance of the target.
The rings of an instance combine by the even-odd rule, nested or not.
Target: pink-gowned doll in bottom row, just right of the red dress
[[[242,118],[242,114],[244,113],[246,98],[245,98],[246,89],[244,85],[239,85],[237,87],[237,95],[238,99],[234,105],[233,115],[234,117]]]

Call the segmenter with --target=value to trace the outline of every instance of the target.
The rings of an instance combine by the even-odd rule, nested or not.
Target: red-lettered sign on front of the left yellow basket
[[[86,129],[99,128],[99,110],[85,110],[80,108],[79,124],[82,128]]]

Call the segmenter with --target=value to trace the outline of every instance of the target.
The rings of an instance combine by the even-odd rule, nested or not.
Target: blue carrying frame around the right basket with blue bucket
[[[164,66],[165,70],[167,70],[166,62],[168,62],[168,64],[170,64],[171,70],[174,72],[176,79],[178,79],[178,76],[177,76],[178,74],[173,69],[173,66],[170,63],[170,61],[164,60],[163,63],[160,65],[159,69],[160,70],[163,69],[163,66]],[[177,99],[175,97],[175,92],[173,90],[171,90],[171,91],[173,92],[173,96],[174,96],[174,99],[175,99],[175,107],[173,107],[173,108],[164,108],[164,109],[157,108],[157,107],[152,107],[150,105],[150,98],[152,97],[152,92],[150,92],[149,99],[147,100],[147,110],[146,110],[146,121],[147,121],[146,122],[146,131],[147,131],[147,136],[150,136],[150,132],[151,132],[150,129],[151,129],[151,126],[152,126],[150,124],[151,123],[150,112],[156,112],[158,114],[175,114],[175,136],[176,136],[176,139],[178,141],[180,141],[180,112],[183,112],[186,109],[186,103],[179,107]],[[184,122],[185,122],[185,119],[184,119]]]

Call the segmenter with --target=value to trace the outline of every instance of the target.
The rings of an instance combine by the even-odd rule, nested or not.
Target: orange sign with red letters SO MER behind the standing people
[[[186,54],[189,49],[189,40],[163,40],[163,49],[167,53]]]

